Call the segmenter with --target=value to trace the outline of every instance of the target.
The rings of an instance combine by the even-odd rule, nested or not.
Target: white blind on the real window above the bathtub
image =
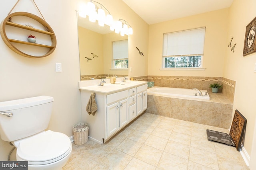
[[[163,57],[204,54],[205,27],[164,34]]]

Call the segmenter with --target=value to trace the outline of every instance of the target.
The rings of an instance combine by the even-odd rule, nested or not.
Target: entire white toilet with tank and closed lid
[[[47,130],[54,99],[38,96],[0,102],[0,137],[17,149],[28,170],[61,170],[72,151],[69,137]]]

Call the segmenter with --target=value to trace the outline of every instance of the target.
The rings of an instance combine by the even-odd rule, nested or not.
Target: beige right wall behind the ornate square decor
[[[236,80],[234,110],[238,109],[248,120],[244,147],[249,155],[252,145],[256,145],[252,141],[256,118],[256,53],[243,57],[243,48],[246,25],[256,16],[255,6],[255,0],[234,0],[230,8],[228,39],[234,37],[232,43],[236,43],[236,47],[233,53],[226,46],[223,73],[223,77]]]

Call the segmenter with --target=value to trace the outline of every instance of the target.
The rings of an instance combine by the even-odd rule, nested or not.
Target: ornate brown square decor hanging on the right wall
[[[255,29],[256,17],[246,26],[243,56],[256,52]]]

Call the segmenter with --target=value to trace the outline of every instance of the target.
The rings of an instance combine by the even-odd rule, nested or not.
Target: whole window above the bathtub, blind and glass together
[[[205,27],[165,33],[163,68],[202,67]]]

